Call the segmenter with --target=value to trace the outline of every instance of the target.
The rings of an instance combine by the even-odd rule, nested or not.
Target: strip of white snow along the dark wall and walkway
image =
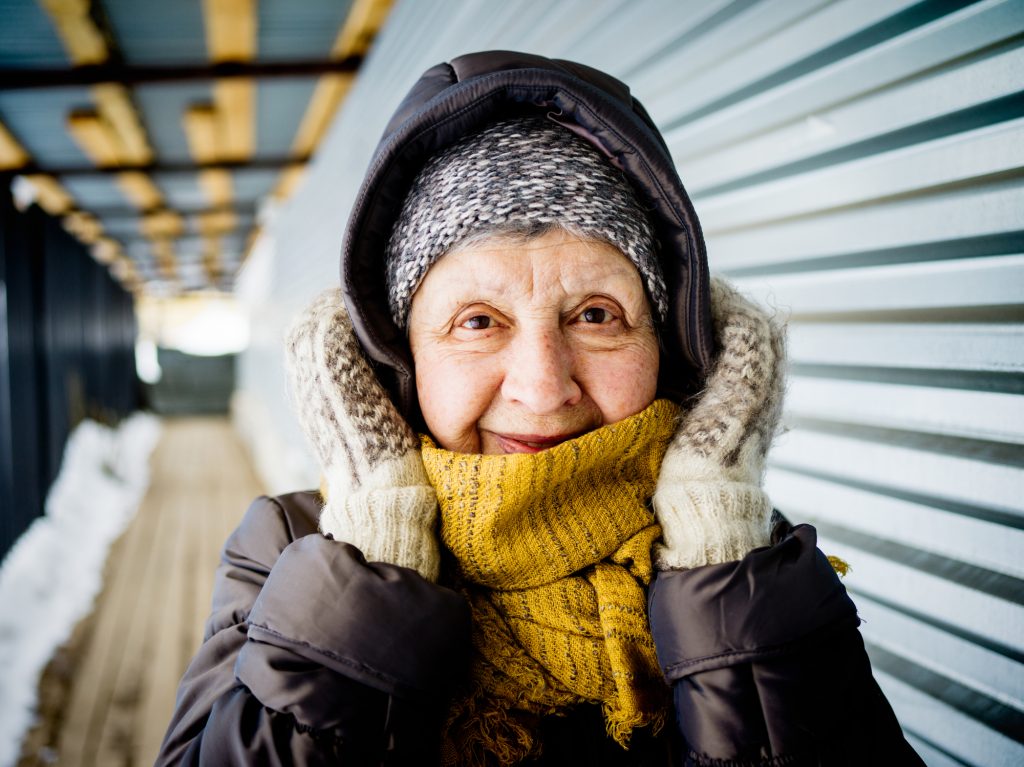
[[[106,553],[150,483],[160,420],[135,414],[111,429],[83,421],[65,448],[46,513],[0,565],[0,765],[17,761],[39,677],[92,609]]]

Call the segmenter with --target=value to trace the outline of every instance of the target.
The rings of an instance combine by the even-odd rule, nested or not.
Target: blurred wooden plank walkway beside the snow
[[[261,492],[226,419],[164,421],[152,484],[72,643],[66,704],[38,763],[153,764],[202,640],[220,548]]]

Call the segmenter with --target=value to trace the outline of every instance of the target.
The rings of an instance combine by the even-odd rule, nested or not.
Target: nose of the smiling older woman
[[[502,395],[531,413],[554,413],[580,401],[572,350],[560,330],[521,330],[510,347]]]

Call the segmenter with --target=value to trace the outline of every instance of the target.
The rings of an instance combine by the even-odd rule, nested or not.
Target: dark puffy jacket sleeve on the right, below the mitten
[[[816,544],[800,525],[737,562],[655,579],[651,631],[685,767],[924,764]]]

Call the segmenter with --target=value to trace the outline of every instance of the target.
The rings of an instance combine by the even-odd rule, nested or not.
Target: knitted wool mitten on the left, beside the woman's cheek
[[[370,561],[437,579],[437,499],[420,440],[398,415],[352,332],[341,291],[321,294],[288,334],[291,393],[327,484],[324,535]]]

